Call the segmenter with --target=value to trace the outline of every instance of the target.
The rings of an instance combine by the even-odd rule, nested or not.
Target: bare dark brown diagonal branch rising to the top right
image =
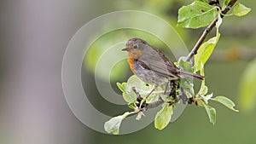
[[[237,0],[231,0],[230,3],[224,8],[224,10],[221,11],[221,18],[224,17],[224,14],[227,14],[230,11],[230,9],[234,6],[236,1]],[[214,20],[212,20],[212,23],[209,26],[207,26],[207,28],[202,33],[197,43],[195,43],[194,48],[190,51],[189,55],[187,56],[186,58],[187,61],[191,60],[192,57],[197,54],[197,50],[200,48],[201,44],[204,42],[207,35],[212,31],[212,28],[216,26],[217,21],[218,21],[218,18],[215,18]]]

